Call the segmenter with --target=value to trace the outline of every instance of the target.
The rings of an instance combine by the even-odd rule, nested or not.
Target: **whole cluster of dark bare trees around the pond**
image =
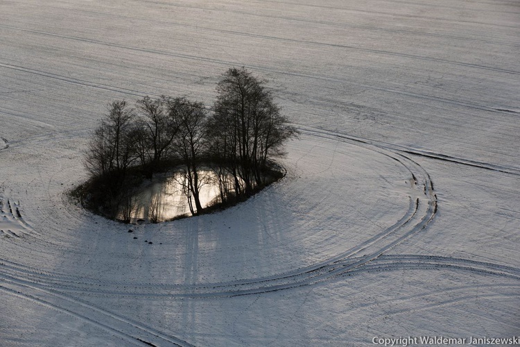
[[[212,110],[185,98],[146,96],[135,108],[114,101],[108,111],[89,142],[85,166],[103,196],[96,200],[112,217],[129,205],[137,180],[172,168],[184,174],[192,214],[203,210],[202,167],[215,171],[221,202],[247,198],[266,184],[270,160],[297,135],[265,81],[244,68],[223,75]]]

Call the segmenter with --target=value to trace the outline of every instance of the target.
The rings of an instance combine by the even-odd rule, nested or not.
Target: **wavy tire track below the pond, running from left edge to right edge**
[[[3,266],[5,271],[5,266]],[[98,283],[87,283],[81,286],[79,282],[70,280],[58,280],[49,276],[31,276],[25,278],[20,271],[5,271],[4,276],[11,276],[19,280],[31,281],[35,286],[56,290],[71,295],[104,295],[104,296],[140,296],[140,297],[168,297],[168,298],[221,298],[243,295],[264,294],[271,291],[315,285],[320,282],[331,280],[332,278],[347,276],[359,276],[364,273],[382,271],[403,271],[403,270],[451,270],[476,273],[483,276],[499,276],[520,280],[520,269],[512,266],[494,264],[489,262],[478,262],[456,257],[440,257],[433,255],[379,255],[374,259],[367,260],[367,257],[346,258],[315,271],[306,271],[293,276],[281,277],[273,280],[238,283],[220,283],[214,285],[192,285],[192,286],[166,286],[139,285],[131,283],[114,286],[106,285],[100,289]],[[129,291],[130,289],[130,291]]]

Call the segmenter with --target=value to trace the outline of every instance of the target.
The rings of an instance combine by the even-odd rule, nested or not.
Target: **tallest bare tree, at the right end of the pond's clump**
[[[254,187],[262,185],[268,160],[282,155],[283,144],[297,135],[265,83],[244,68],[232,68],[217,86],[209,121],[211,146],[234,176],[237,195],[249,196]]]

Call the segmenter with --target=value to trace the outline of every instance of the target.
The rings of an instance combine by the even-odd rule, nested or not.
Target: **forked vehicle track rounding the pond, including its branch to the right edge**
[[[520,278],[520,269],[498,264],[474,262],[449,257],[424,255],[385,255],[390,249],[413,237],[428,226],[437,212],[437,196],[433,190],[430,176],[416,162],[385,146],[368,143],[365,139],[349,138],[346,135],[300,128],[302,133],[314,137],[340,139],[344,142],[365,146],[381,153],[391,160],[406,167],[413,180],[410,188],[417,196],[410,196],[408,210],[403,217],[389,228],[370,237],[361,244],[345,250],[343,253],[322,262],[304,266],[294,271],[277,273],[273,276],[250,278],[227,282],[208,282],[196,285],[168,285],[160,283],[110,282],[99,281],[83,276],[45,272],[9,260],[0,260],[1,276],[12,281],[28,281],[44,289],[74,292],[81,294],[103,294],[119,296],[170,296],[180,298],[211,298],[221,296],[239,296],[261,294],[304,285],[314,285],[336,276],[350,276],[367,271],[392,271],[397,269],[459,269],[476,273],[489,273],[497,276]],[[23,223],[23,219],[14,215]],[[40,239],[42,235],[29,232]],[[44,237],[42,240],[44,241]],[[95,289],[94,289],[95,288]]]

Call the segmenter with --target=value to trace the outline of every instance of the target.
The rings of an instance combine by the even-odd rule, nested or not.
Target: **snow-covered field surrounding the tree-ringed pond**
[[[0,1],[0,345],[519,336],[519,57],[508,0]],[[68,200],[108,102],[241,66],[286,178],[155,225]]]

